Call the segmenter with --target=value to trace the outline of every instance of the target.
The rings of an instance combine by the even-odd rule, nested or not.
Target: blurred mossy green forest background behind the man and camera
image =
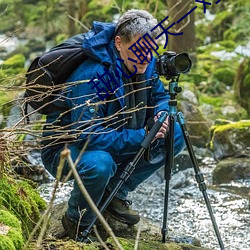
[[[0,40],[0,104],[15,99],[19,91],[23,91],[17,86],[24,85],[27,66],[35,56],[72,35],[87,32],[94,20],[116,22],[124,11],[137,8],[148,10],[158,21],[169,16],[164,24],[168,27],[197,6],[170,29],[170,32],[183,32],[183,35],[168,35],[166,50],[163,42],[158,52],[172,50],[190,54],[193,67],[180,80],[195,88],[200,105],[212,105],[207,118],[247,119],[250,115],[250,2],[201,2],[0,0],[0,33],[4,35]],[[5,45],[14,39],[19,43],[8,51]],[[221,107],[228,105],[235,109],[223,113]],[[1,127],[6,125],[10,107],[1,106]]]

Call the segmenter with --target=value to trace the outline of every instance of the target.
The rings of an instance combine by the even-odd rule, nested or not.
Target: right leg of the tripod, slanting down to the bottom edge
[[[209,215],[210,215],[210,218],[211,218],[211,221],[212,221],[212,224],[213,224],[213,228],[214,228],[216,237],[218,239],[220,248],[221,248],[221,250],[224,250],[225,247],[223,245],[221,235],[220,235],[220,232],[219,232],[219,229],[218,229],[218,226],[217,226],[214,214],[213,214],[213,210],[212,210],[210,201],[208,199],[208,195],[207,195],[207,192],[206,192],[207,187],[206,187],[206,184],[204,182],[204,177],[203,177],[203,174],[201,173],[201,171],[199,169],[198,162],[197,162],[197,159],[195,157],[195,154],[194,154],[194,151],[193,151],[190,139],[189,139],[189,133],[188,133],[187,128],[186,128],[184,116],[183,116],[183,114],[181,112],[178,112],[177,113],[177,118],[178,118],[179,124],[181,126],[181,130],[182,130],[185,142],[186,142],[186,146],[187,146],[187,150],[188,150],[190,159],[191,159],[191,161],[193,163],[193,167],[194,167],[194,171],[195,171],[195,179],[196,179],[196,181],[197,181],[197,183],[199,185],[200,191],[203,194],[203,197],[204,197],[204,200],[205,200],[205,203],[206,203],[206,206],[207,206],[207,210],[209,212]]]

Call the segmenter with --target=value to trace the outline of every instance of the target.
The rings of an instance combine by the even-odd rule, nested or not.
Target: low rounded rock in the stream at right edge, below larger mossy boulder
[[[250,158],[227,158],[219,162],[213,171],[213,183],[250,179]]]

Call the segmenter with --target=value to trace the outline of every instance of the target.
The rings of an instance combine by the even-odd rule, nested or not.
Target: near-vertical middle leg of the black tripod
[[[164,213],[163,213],[163,225],[162,225],[162,242],[166,242],[166,235],[168,232],[167,220],[168,220],[168,199],[169,199],[169,183],[172,176],[172,169],[174,165],[174,122],[173,115],[169,115],[169,132],[166,138],[166,162],[165,162],[165,197],[164,197]]]

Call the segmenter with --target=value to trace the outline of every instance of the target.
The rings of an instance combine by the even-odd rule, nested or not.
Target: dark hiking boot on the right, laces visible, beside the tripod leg
[[[130,208],[131,205],[132,201],[114,197],[105,211],[122,223],[134,225],[140,221],[140,216]]]

